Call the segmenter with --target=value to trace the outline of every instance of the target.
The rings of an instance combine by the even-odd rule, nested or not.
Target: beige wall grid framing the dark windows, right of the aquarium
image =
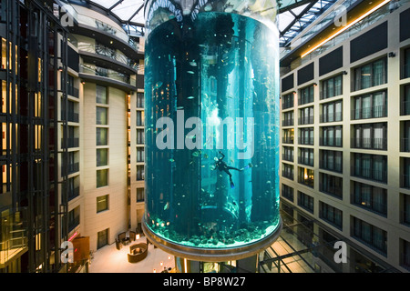
[[[399,266],[399,241],[400,239],[405,239],[410,241],[410,229],[408,226],[404,226],[400,224],[400,204],[399,204],[399,197],[400,193],[410,194],[409,190],[400,188],[400,156],[410,157],[409,153],[402,153],[400,152],[400,121],[401,120],[410,120],[409,115],[401,116],[399,113],[400,109],[400,91],[402,85],[410,84],[410,79],[403,79],[400,80],[400,60],[403,58],[403,51],[401,48],[410,45],[410,39],[400,43],[399,36],[398,36],[398,29],[399,27],[399,17],[398,14],[407,9],[409,5],[407,4],[405,7],[402,7],[400,10],[395,11],[395,13],[391,15],[387,15],[385,18],[380,20],[379,22],[371,25],[370,27],[366,27],[360,33],[354,35],[357,37],[359,35],[364,34],[368,30],[372,29],[375,25],[379,25],[388,19],[388,47],[384,50],[381,50],[373,55],[368,55],[363,59],[350,64],[350,40],[348,39],[344,41],[343,45],[343,67],[327,74],[322,75],[319,77],[319,57],[313,58],[311,61],[304,63],[304,65],[308,65],[311,62],[314,62],[314,79],[309,81],[308,83],[302,85],[297,84],[297,69],[302,68],[304,65],[299,66],[297,69],[291,71],[290,73],[283,75],[282,77],[286,77],[287,75],[294,74],[295,78],[295,87],[287,92],[282,92],[281,95],[286,95],[291,93],[292,91],[299,92],[298,89],[306,86],[312,85],[313,83],[318,84],[314,88],[314,103],[309,105],[314,105],[314,125],[298,125],[298,117],[299,117],[299,110],[305,105],[298,106],[298,95],[294,95],[294,106],[293,108],[281,110],[282,112],[289,112],[293,110],[294,114],[294,125],[293,126],[282,126],[281,121],[281,129],[283,128],[294,128],[294,144],[293,144],[293,156],[294,156],[294,163],[286,162],[287,164],[292,164],[294,166],[294,179],[291,181],[288,178],[281,177],[281,191],[282,191],[282,184],[292,186],[294,189],[293,192],[293,205],[297,206],[297,191],[301,191],[309,196],[314,197],[314,214],[307,213],[309,216],[313,216],[317,220],[321,221],[324,225],[329,226],[333,229],[333,231],[339,233],[340,235],[350,237],[351,236],[351,223],[352,218],[351,216],[355,216],[360,218],[373,226],[377,226],[382,228],[387,232],[387,257],[382,256],[375,252],[372,248],[365,246],[364,244],[360,243],[357,240],[351,238],[355,244],[364,247],[364,249],[368,250],[374,256],[380,257],[388,264],[395,266],[397,269],[407,272],[405,268]],[[336,45],[335,48],[338,48],[340,45]],[[324,54],[328,54],[332,52],[333,49],[326,51]],[[381,56],[388,55],[390,52],[395,52],[395,57],[387,57],[387,76],[388,80],[387,83],[384,85],[374,86],[368,89],[359,90],[359,91],[351,91],[353,82],[354,82],[354,67],[363,65],[368,63],[372,60],[375,60]],[[299,61],[298,61],[299,62]],[[348,75],[343,75],[343,95],[335,96],[332,98],[320,100],[319,99],[319,88],[320,83],[322,80],[329,78],[333,75],[338,75],[341,72],[346,71]],[[353,104],[353,97],[355,95],[364,95],[366,93],[371,93],[379,90],[387,90],[387,106],[388,112],[387,117],[383,118],[374,118],[374,119],[366,119],[366,120],[351,120],[351,110],[354,108]],[[327,103],[333,100],[340,100],[343,99],[343,121],[341,122],[333,122],[333,123],[325,123],[320,124],[320,104]],[[282,114],[281,114],[282,119]],[[351,137],[353,137],[353,125],[354,124],[365,124],[365,123],[372,123],[372,122],[386,122],[387,123],[387,151],[378,151],[378,150],[364,150],[364,149],[354,149],[351,148]],[[320,126],[322,125],[343,125],[343,148],[340,147],[326,147],[326,146],[319,146],[319,137],[320,137]],[[301,127],[311,127],[314,126],[314,146],[302,146],[302,147],[311,147],[314,148],[314,166],[303,166],[307,168],[314,169],[314,189],[303,186],[297,182],[297,157],[298,157],[298,128]],[[281,130],[281,156],[282,156],[282,146],[292,146],[292,145],[282,145],[282,130]],[[319,169],[319,149],[329,149],[329,150],[342,150],[343,151],[343,174],[337,174],[331,171],[320,170]],[[374,154],[374,155],[384,155],[387,156],[387,168],[388,168],[388,176],[387,176],[387,185],[383,185],[380,183],[376,183],[373,181],[351,177],[351,158],[352,153],[367,153],[367,154]],[[302,166],[302,165],[301,165]],[[282,161],[281,161],[282,167]],[[328,173],[333,176],[341,176],[343,177],[343,200],[337,199],[333,196],[329,196],[319,192],[319,173]],[[282,173],[282,169],[281,169]],[[363,182],[367,185],[374,185],[379,186],[387,189],[387,217],[376,215],[370,211],[366,211],[360,207],[354,206],[351,204],[351,181],[358,181]],[[286,202],[289,200],[284,199]],[[343,211],[343,231],[335,228],[334,226],[326,223],[323,219],[319,218],[319,201],[322,201],[330,206],[334,206],[339,210]],[[290,203],[290,202],[289,202]],[[302,208],[302,212],[305,212]]]

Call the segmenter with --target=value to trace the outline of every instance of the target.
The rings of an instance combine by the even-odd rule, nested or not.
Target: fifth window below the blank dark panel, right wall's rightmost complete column
[[[354,181],[351,203],[378,215],[387,216],[387,190]]]

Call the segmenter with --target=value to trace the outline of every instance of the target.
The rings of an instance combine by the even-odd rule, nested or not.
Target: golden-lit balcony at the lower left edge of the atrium
[[[0,218],[0,268],[27,251],[26,208]]]

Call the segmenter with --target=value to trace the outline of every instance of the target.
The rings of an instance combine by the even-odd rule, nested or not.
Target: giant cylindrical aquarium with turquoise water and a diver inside
[[[272,244],[279,215],[276,1],[147,1],[149,239],[224,261]]]

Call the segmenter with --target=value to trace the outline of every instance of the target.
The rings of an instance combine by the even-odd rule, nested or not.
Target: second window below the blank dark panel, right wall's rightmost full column
[[[387,95],[385,91],[354,97],[352,119],[379,118],[387,116]]]

